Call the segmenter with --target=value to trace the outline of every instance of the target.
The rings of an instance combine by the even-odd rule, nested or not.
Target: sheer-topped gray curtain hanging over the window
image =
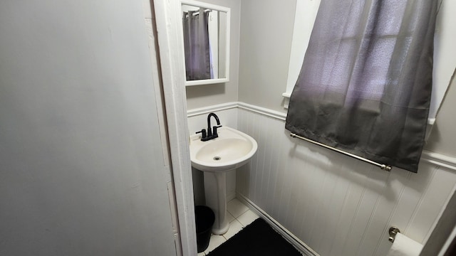
[[[322,0],[286,129],[416,172],[436,15],[434,0]]]

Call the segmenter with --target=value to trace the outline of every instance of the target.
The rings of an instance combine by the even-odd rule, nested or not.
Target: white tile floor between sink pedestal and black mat
[[[236,235],[242,228],[256,220],[258,215],[252,210],[249,210],[244,203],[241,203],[237,198],[227,203],[227,218],[229,222],[229,229],[224,235],[211,235],[209,247],[204,252],[199,252],[198,256],[207,255],[210,251],[222,245],[223,242]]]

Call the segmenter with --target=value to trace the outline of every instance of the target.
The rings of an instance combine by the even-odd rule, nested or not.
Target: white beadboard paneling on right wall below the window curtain
[[[455,171],[434,161],[382,171],[289,137],[283,115],[239,103],[237,118],[259,146],[237,169],[237,193],[321,256],[386,255],[391,225],[423,243],[455,189]]]

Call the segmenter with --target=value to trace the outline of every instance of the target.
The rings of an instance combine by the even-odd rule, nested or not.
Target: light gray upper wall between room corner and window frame
[[[286,89],[296,0],[247,0],[241,7],[239,101],[286,112],[281,95]]]

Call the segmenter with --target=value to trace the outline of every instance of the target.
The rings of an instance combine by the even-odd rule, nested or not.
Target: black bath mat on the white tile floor
[[[302,256],[293,245],[259,218],[207,256]]]

